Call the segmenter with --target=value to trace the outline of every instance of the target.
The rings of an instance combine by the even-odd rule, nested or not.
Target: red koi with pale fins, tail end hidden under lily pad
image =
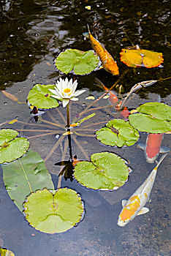
[[[167,153],[170,148],[161,146],[164,134],[149,133],[146,143],[138,143],[138,147],[144,150],[145,159],[149,163],[153,163],[159,156],[159,153]]]

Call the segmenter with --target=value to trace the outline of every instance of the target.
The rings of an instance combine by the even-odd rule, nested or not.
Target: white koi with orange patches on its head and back
[[[134,194],[129,197],[129,200],[122,200],[123,209],[118,217],[118,226],[124,227],[137,215],[145,214],[149,211],[149,209],[144,206],[151,195],[151,189],[153,188],[153,183],[156,178],[157,168],[166,155],[167,154],[164,154],[161,157],[156,167],[151,171],[151,174],[145,179]]]

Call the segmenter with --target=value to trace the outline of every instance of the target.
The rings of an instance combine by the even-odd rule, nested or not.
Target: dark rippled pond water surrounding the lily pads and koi
[[[86,9],[87,6],[90,6],[91,10]],[[94,36],[96,34],[99,42],[104,43],[105,48],[117,61],[121,74],[128,67],[120,61],[119,53],[122,48],[132,43],[164,54],[162,67],[129,68],[129,72],[119,81],[119,86],[122,85],[124,89],[120,97],[125,97],[135,83],[170,76],[170,31],[168,29],[170,9],[167,0],[117,2],[6,0],[1,1],[0,7],[0,89],[15,95],[20,102],[26,102],[28,91],[35,83],[56,83],[61,75],[53,61],[62,50],[67,48],[91,50],[90,42],[83,37],[83,32],[87,31],[87,23],[92,29],[92,34]],[[123,29],[132,43],[129,42]],[[64,78],[66,77],[74,78],[74,75],[64,75]],[[96,86],[95,78],[102,80],[108,88],[118,79],[104,69],[91,72],[89,75],[77,76],[78,89],[86,89],[86,93],[80,95],[78,102],[72,102],[72,121],[78,113],[91,104],[92,100],[86,97],[93,95],[97,99],[103,94],[102,89]],[[159,96],[161,102],[170,105],[169,89],[170,80],[160,81],[134,94],[126,102],[126,106],[132,110],[145,102],[157,101]],[[116,93],[118,95],[118,91]],[[108,99],[99,100],[94,107],[104,105],[109,105]],[[31,109],[28,105],[13,102],[2,93],[0,109],[0,123],[14,118],[28,123],[28,125],[19,122],[11,125],[4,124],[1,128],[42,129],[41,126],[39,128],[39,124],[42,123],[40,121],[36,123],[31,117]],[[59,110],[66,118],[66,110],[61,105]],[[150,211],[136,217],[125,227],[117,225],[121,200],[128,199],[140,187],[156,164],[145,162],[144,153],[137,148],[137,143],[134,146],[117,148],[104,146],[94,138],[94,132],[103,124],[96,125],[95,128],[91,124],[115,118],[113,112],[111,108],[87,112],[85,116],[91,113],[96,113],[96,116],[85,122],[86,128],[77,130],[80,135],[72,136],[72,153],[77,155],[78,159],[89,159],[91,154],[96,152],[114,152],[130,162],[129,166],[133,171],[130,173],[129,181],[118,190],[105,192],[86,189],[75,179],[71,182],[69,179],[65,181],[62,178],[61,187],[75,189],[81,195],[86,213],[76,227],[72,227],[65,233],[47,234],[28,225],[23,214],[8,196],[4,187],[2,169],[0,169],[1,247],[10,249],[15,256],[170,255],[169,155],[159,167],[151,192],[151,200],[147,203]],[[47,110],[42,118],[64,124],[64,120],[54,109]],[[37,151],[42,159],[47,158],[45,165],[52,176],[54,186],[57,187],[61,167],[54,164],[61,159],[69,159],[67,139],[64,138],[58,148],[54,149],[53,146],[58,141],[56,135],[61,135],[61,131],[56,129],[56,135],[34,137],[40,134],[41,132],[38,131],[20,131],[20,135],[30,138],[31,149]],[[140,133],[139,141],[145,143],[146,136],[145,133]],[[162,146],[170,146],[169,136],[164,135]],[[53,153],[47,157],[52,148]]]

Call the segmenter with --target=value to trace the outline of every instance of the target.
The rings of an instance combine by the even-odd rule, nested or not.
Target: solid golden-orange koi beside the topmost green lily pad
[[[83,36],[90,39],[92,48],[94,49],[96,54],[99,56],[99,59],[102,61],[102,66],[104,67],[104,69],[107,72],[112,73],[113,75],[119,75],[118,66],[114,61],[113,57],[110,55],[110,53],[107,52],[104,46],[92,36],[89,26],[88,26],[88,32],[83,33]]]

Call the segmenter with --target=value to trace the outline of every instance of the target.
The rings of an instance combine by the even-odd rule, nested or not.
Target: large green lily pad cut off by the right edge
[[[171,131],[171,107],[159,102],[148,102],[137,108],[139,113],[129,116],[129,122],[140,132]]]

